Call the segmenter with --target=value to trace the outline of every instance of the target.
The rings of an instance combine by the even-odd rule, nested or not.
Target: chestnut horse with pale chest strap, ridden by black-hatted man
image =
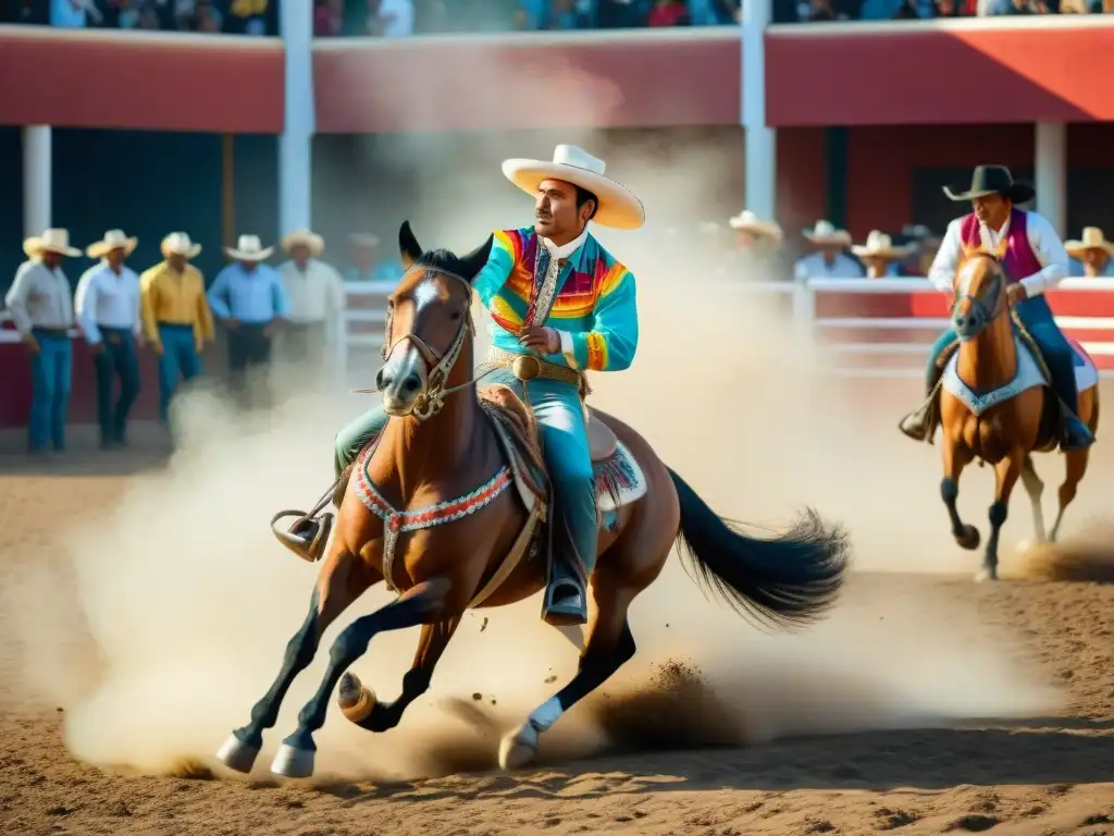
[[[951,518],[951,533],[964,548],[978,548],[979,533],[975,526],[965,524],[956,509],[959,475],[975,459],[994,466],[996,488],[989,513],[990,536],[977,574],[979,580],[997,580],[998,534],[1006,522],[1009,496],[1018,477],[1033,504],[1036,541],[1045,542],[1040,509],[1044,483],[1037,476],[1030,454],[1048,453],[1058,443],[1058,400],[1037,364],[1036,347],[1027,344],[1023,331],[1015,331],[1006,286],[1006,274],[990,253],[974,253],[960,264],[951,311],[959,352],[954,373],[945,373],[940,389],[944,428],[940,495]],[[1082,349],[1076,350],[1082,354]],[[1084,356],[1084,359],[1089,362],[1089,358]],[[1081,387],[1079,419],[1092,432],[1097,428],[1097,386]],[[1087,449],[1064,454],[1067,474],[1059,487],[1059,509],[1048,541],[1056,539],[1064,509],[1075,498],[1087,470]]]

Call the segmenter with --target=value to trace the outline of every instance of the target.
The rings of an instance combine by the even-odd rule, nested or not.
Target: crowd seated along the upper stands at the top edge
[[[278,0],[6,0],[0,22],[274,35]],[[742,0],[313,0],[317,37],[737,23]],[[1114,0],[772,0],[775,23],[1112,13]]]

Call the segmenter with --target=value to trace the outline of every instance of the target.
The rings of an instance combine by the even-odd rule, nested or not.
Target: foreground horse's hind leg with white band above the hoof
[[[600,563],[604,558],[600,560]],[[588,641],[580,654],[576,675],[554,697],[534,709],[521,726],[504,737],[499,745],[499,766],[519,769],[534,760],[538,738],[558,718],[599,686],[634,657],[634,634],[627,621],[627,607],[635,592],[618,586],[597,572],[593,576],[592,595],[596,606],[588,626]]]

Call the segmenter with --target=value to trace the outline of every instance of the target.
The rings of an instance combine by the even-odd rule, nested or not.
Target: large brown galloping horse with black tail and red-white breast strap
[[[539,489],[545,474],[537,468],[530,415],[507,388],[478,390],[472,372],[471,281],[487,263],[491,239],[462,257],[422,252],[409,224],[399,240],[407,273],[390,298],[387,363],[377,377],[391,418],[340,488],[343,499],[310,611],[286,645],[277,679],[252,709],[251,722],[218,752],[243,772],[251,771],[264,730],[274,726],[283,697],[312,661],[324,630],[369,587],[385,580],[401,594],[340,633],[297,730],[275,756],[272,770],[280,775],[313,772],[313,733],[342,677],[344,716],[371,731],[393,728],[429,688],[468,607],[521,601],[545,583],[545,550],[528,548],[539,542],[536,524],[548,505]],[[609,493],[599,494],[606,513],[590,579],[587,640],[571,681],[504,738],[504,768],[529,762],[539,732],[634,655],[627,609],[657,577],[674,539],[707,590],[741,614],[783,629],[820,618],[847,570],[846,535],[813,511],[780,536],[747,536],[716,516],[633,429],[598,412],[590,421],[597,479],[613,478]],[[528,429],[507,444],[508,428],[516,426]],[[608,469],[616,461],[623,467]],[[626,488],[615,478],[620,470]],[[629,489],[639,484],[643,490]],[[377,633],[419,624],[418,652],[397,700],[379,702],[345,675]]]

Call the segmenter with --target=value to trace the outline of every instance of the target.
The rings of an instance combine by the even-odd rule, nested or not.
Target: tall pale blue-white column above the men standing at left
[[[278,137],[278,234],[310,229],[313,105],[313,0],[283,0],[280,30],[285,47],[285,123]]]

